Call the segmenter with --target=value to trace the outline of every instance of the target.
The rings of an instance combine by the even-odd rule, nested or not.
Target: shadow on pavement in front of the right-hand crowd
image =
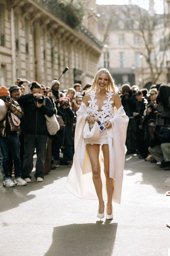
[[[170,189],[170,171],[165,171],[156,163],[140,160],[137,156],[128,155],[125,160],[124,170],[131,172],[127,176],[135,175],[138,172],[142,173],[142,181],[140,184],[152,185],[158,193],[165,194]]]

